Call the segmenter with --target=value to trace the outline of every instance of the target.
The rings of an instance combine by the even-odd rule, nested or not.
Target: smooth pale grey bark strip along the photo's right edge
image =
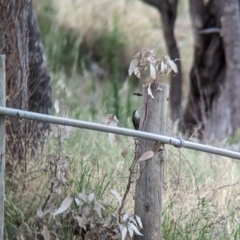
[[[238,0],[222,0],[221,25],[227,63],[226,81],[231,103],[231,127],[235,133],[240,128],[240,16]]]

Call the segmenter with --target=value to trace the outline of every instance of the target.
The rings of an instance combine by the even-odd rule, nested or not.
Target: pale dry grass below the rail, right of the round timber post
[[[176,239],[238,239],[239,162],[192,150],[172,150],[165,168],[163,198],[169,217],[166,225],[174,224],[184,235]]]

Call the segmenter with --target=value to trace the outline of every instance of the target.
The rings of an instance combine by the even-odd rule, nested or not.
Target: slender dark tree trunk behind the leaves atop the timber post
[[[166,41],[168,54],[171,59],[180,59],[177,42],[174,35],[174,25],[177,17],[178,0],[144,0],[144,2],[156,7],[161,14],[164,38]],[[171,119],[173,122],[181,120],[181,100],[182,100],[182,70],[181,62],[176,61],[178,74],[171,73],[170,106]]]

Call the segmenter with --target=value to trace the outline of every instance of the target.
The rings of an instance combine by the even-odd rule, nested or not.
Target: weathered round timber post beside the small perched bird
[[[151,90],[154,99],[148,95],[147,88],[143,88],[140,130],[164,135],[169,85],[153,83]],[[143,236],[135,236],[136,240],[161,239],[163,163],[166,154],[163,144],[141,139],[136,145],[136,159],[149,150],[156,153],[152,158],[139,163],[140,175],[136,183],[135,214],[143,223]]]

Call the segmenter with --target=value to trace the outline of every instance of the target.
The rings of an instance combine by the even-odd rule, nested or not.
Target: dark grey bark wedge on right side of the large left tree
[[[47,61],[44,55],[40,30],[31,6],[28,16],[29,27],[29,78],[28,78],[28,110],[43,114],[50,114],[52,107],[52,88]],[[49,127],[48,123],[36,122],[35,132]]]

